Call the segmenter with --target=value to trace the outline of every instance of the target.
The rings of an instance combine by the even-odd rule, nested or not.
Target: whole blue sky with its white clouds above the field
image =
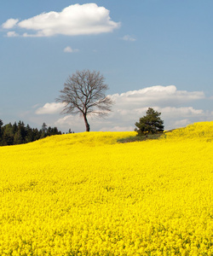
[[[91,131],[134,130],[148,107],[165,129],[212,120],[212,9],[211,0],[3,1],[0,119],[84,131],[55,98],[69,75],[90,69],[116,102]]]

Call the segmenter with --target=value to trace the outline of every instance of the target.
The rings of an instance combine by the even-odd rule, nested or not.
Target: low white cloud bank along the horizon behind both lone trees
[[[133,131],[135,122],[146,114],[151,107],[162,113],[166,130],[187,124],[213,119],[213,113],[193,108],[192,104],[205,99],[203,91],[177,90],[175,85],[153,86],[141,90],[130,90],[111,95],[116,103],[107,119],[89,118],[92,131]],[[36,113],[52,113],[52,125],[62,131],[84,131],[83,119],[78,115],[66,115],[57,118],[53,113],[60,113],[61,103],[46,103]],[[56,120],[55,120],[56,119]]]

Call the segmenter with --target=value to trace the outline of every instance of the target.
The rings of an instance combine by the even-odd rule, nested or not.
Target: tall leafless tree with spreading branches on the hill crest
[[[77,71],[66,80],[64,89],[60,90],[57,102],[65,103],[62,113],[73,113],[83,117],[86,131],[90,131],[87,117],[95,115],[104,117],[111,112],[112,100],[105,96],[108,89],[104,77],[97,71]]]

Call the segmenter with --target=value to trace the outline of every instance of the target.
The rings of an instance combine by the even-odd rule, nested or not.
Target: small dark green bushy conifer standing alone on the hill
[[[139,122],[135,123],[135,131],[138,135],[143,135],[144,133],[158,133],[164,131],[164,121],[160,119],[161,113],[154,111],[153,108],[148,108],[147,115],[139,119]]]

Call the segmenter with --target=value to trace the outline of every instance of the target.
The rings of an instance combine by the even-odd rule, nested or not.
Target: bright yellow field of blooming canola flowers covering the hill
[[[213,255],[213,122],[0,148],[0,255]]]

